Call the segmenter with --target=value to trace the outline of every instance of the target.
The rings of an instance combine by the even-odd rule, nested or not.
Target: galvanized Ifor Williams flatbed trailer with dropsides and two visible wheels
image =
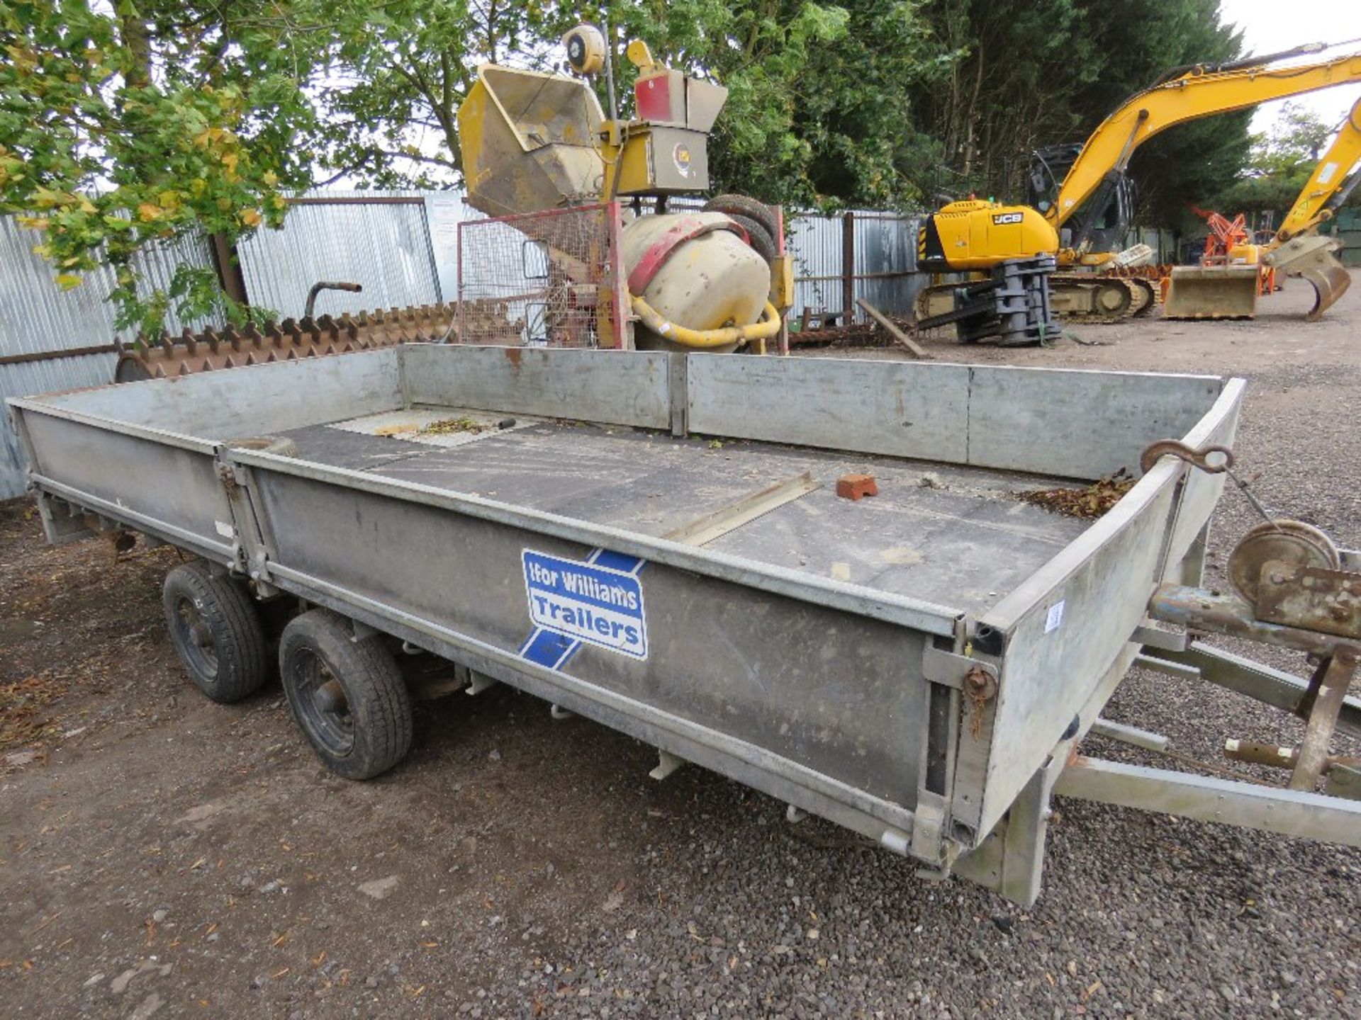
[[[1155,593],[1200,581],[1222,475],[1154,453],[1096,521],[1014,498],[1139,473],[1160,439],[1229,445],[1243,390],[1199,375],[404,345],[11,413],[52,541],[136,530],[211,564],[177,568],[166,596],[210,696],[244,696],[268,672],[252,597],[314,607],[284,630],[280,664],[299,725],[342,774],[406,753],[395,656],[425,650],[457,664],[470,692],[512,684],[648,741],[657,778],[712,768],[791,817],[823,816],[1029,903],[1056,786],[1361,843],[1361,805],[1312,783],[1075,756],[1093,725],[1153,740],[1098,718],[1141,657],[1288,710],[1307,692],[1151,626]],[[278,439],[234,445],[263,435]],[[838,498],[849,472],[879,494]],[[1361,733],[1361,706],[1338,700],[1332,722]]]

